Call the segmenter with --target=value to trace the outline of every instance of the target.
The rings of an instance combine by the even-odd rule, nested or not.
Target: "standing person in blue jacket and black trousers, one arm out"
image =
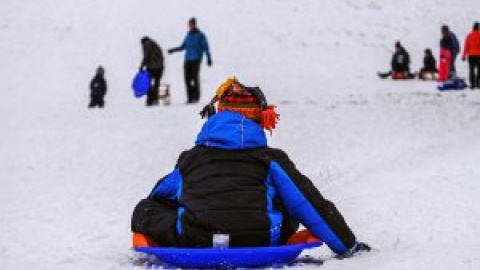
[[[168,50],[169,54],[185,50],[184,75],[187,88],[187,103],[197,103],[200,100],[200,64],[203,54],[207,55],[207,65],[212,66],[212,57],[208,48],[205,34],[197,28],[197,21],[191,18],[188,21],[189,31],[183,43]]]

